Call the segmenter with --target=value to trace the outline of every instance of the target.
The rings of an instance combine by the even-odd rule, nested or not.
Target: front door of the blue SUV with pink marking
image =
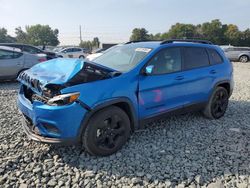
[[[139,77],[141,119],[183,107],[186,81],[181,71],[181,51],[179,47],[165,48],[142,70],[147,70],[147,74]]]

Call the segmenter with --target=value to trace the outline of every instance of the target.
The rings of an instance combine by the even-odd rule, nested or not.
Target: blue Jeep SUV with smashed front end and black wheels
[[[210,119],[222,117],[233,68],[209,41],[132,41],[93,62],[40,63],[18,80],[18,108],[31,139],[81,143],[90,154],[105,156],[156,118],[195,110]]]

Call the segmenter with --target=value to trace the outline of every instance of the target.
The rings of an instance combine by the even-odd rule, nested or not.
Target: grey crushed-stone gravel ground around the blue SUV
[[[199,113],[147,125],[115,155],[27,139],[17,83],[0,83],[0,187],[250,187],[250,63],[234,63],[226,115]]]

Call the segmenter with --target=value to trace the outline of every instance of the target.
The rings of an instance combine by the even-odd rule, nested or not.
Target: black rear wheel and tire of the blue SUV
[[[224,87],[217,87],[205,107],[203,114],[209,119],[224,116],[228,106],[229,94]]]

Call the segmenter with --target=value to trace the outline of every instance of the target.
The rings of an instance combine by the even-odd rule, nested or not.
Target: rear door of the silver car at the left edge
[[[23,61],[23,53],[0,49],[0,77],[16,77],[23,68]]]

